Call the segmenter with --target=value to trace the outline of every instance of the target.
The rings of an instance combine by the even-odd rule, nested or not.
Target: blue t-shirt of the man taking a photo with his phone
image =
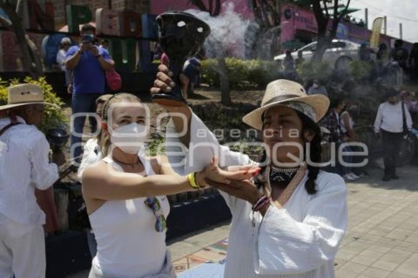
[[[68,59],[80,50],[79,46],[72,46],[67,51]],[[105,60],[111,57],[106,49],[99,48],[99,55]],[[79,63],[73,69],[73,93],[74,94],[102,94],[105,91],[106,80],[105,71],[100,66],[97,58],[91,55],[90,51],[86,51],[80,58]]]

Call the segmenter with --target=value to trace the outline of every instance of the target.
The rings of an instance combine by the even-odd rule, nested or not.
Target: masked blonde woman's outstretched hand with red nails
[[[207,181],[229,184],[231,180],[248,180],[258,174],[260,167],[254,165],[239,166],[233,169],[222,170],[218,166],[218,160],[212,158],[212,162],[203,171],[196,173],[196,181],[200,186],[210,186]]]

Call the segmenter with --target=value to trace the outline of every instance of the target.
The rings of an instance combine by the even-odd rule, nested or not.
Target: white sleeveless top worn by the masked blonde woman
[[[154,175],[149,160],[139,157],[147,176]],[[103,159],[115,170],[123,171],[110,156]],[[164,216],[170,211],[166,196],[158,196]],[[144,203],[145,197],[110,200],[90,214],[90,223],[97,241],[97,254],[92,261],[94,277],[142,278],[164,272],[166,232],[155,230],[156,218]],[[168,264],[169,255],[167,256]],[[90,273],[91,275],[91,273]],[[158,276],[159,277],[159,276]]]

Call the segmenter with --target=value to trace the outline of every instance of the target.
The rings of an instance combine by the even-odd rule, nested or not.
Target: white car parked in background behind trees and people
[[[304,61],[310,61],[316,50],[317,42],[312,42],[305,45],[297,51],[292,52],[293,59],[298,58],[298,52],[302,52]],[[334,69],[348,69],[350,62],[358,60],[358,49],[360,45],[355,42],[347,40],[332,40],[328,49],[325,51],[322,60],[328,62],[329,66]],[[274,57],[275,61],[283,62],[286,54],[281,54]]]

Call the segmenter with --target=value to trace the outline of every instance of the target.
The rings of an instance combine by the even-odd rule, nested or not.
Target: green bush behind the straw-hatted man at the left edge
[[[7,87],[11,85],[16,85],[19,83],[19,80],[13,79],[8,82],[0,80],[0,105],[7,104]],[[41,77],[39,80],[33,80],[30,77],[26,77],[24,83],[37,84],[42,87],[45,102],[55,104],[61,107],[64,103],[53,91],[53,88],[50,84],[45,81],[45,78]],[[44,115],[42,118],[42,123],[39,126],[39,129],[45,133],[48,129],[52,127],[61,126],[64,123],[67,123],[68,119],[63,114],[62,110],[54,108],[50,105],[46,105],[44,109]]]

